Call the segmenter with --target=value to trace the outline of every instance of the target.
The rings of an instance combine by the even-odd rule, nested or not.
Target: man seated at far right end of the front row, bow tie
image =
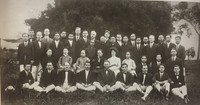
[[[174,74],[171,75],[171,89],[172,93],[181,99],[184,99],[185,103],[188,103],[187,87],[185,85],[184,76],[180,73],[180,67],[174,66]]]

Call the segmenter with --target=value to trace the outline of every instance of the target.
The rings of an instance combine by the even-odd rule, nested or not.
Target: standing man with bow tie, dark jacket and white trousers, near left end
[[[45,55],[45,44],[41,42],[42,33],[40,31],[36,34],[37,40],[33,42],[34,63],[32,66],[32,75],[35,81],[39,81],[38,73],[42,69],[42,59]],[[39,74],[41,76],[41,74]],[[38,77],[38,78],[37,78]]]

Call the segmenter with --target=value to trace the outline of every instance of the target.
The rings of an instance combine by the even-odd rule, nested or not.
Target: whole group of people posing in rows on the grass
[[[54,34],[50,30],[22,35],[18,48],[19,86],[41,94],[58,92],[139,91],[146,101],[155,88],[166,100],[169,93],[189,101],[185,84],[185,48],[181,36],[171,42],[171,35],[139,37],[135,34],[110,35],[106,30],[100,40],[95,30]],[[43,37],[42,37],[43,36]]]

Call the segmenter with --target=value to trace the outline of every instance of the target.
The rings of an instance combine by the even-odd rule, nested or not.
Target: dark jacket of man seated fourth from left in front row
[[[86,77],[85,77],[85,70],[79,72],[77,74],[78,76],[78,83],[84,83],[84,84],[93,84],[94,82],[94,74],[93,72],[90,70],[89,73],[88,73],[88,77],[87,77],[87,80],[86,80]]]

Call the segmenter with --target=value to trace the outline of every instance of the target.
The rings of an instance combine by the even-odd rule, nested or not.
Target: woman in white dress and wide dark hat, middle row
[[[116,57],[117,55],[117,49],[116,48],[111,48],[110,50],[111,57],[108,59],[110,61],[110,70],[114,71],[115,76],[117,73],[120,72],[120,67],[121,67],[121,59],[119,57]]]

